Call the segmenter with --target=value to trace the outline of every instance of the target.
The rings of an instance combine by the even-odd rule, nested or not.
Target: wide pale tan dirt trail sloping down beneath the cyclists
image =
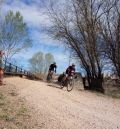
[[[120,129],[120,100],[95,93],[67,92],[55,85],[7,78],[39,115],[37,129]],[[36,115],[35,115],[36,116]]]

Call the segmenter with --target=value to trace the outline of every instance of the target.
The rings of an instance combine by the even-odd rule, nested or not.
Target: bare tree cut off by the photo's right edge
[[[106,57],[112,61],[114,70],[120,78],[120,0],[101,19],[101,34],[105,43],[104,51]]]

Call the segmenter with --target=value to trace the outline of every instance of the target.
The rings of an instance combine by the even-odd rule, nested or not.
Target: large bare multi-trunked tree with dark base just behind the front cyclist
[[[86,71],[89,88],[102,92],[103,44],[98,23],[113,4],[113,0],[70,0],[67,4],[59,4],[60,8],[52,3],[48,9],[53,23],[50,32],[79,59]]]

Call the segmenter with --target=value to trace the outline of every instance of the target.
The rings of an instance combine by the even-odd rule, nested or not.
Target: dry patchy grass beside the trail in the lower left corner
[[[31,113],[14,86],[0,87],[0,129],[33,129],[36,123]]]

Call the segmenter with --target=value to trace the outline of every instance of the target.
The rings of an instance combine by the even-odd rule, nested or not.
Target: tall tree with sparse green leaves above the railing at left
[[[14,14],[9,11],[2,18],[0,28],[0,48],[5,52],[5,59],[31,47],[32,42],[29,37],[28,27],[24,23],[20,12]]]

